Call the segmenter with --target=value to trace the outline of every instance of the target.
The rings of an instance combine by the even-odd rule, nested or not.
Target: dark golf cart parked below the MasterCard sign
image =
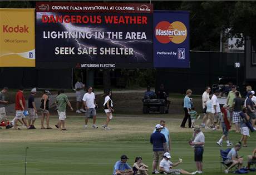
[[[143,113],[160,112],[169,113],[170,101],[165,99],[143,99]]]

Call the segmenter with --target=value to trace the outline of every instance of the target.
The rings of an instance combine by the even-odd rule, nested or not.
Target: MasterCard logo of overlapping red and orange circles
[[[184,23],[175,21],[161,21],[155,27],[155,36],[157,41],[163,44],[173,42],[175,44],[183,43],[186,39],[188,31]]]

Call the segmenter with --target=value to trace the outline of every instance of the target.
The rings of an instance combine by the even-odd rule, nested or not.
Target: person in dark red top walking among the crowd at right
[[[222,126],[222,131],[223,135],[220,137],[219,141],[217,142],[218,146],[222,147],[222,142],[224,139],[227,141],[227,146],[231,147],[233,146],[233,143],[231,143],[228,139],[228,132],[229,129],[231,128],[231,119],[230,119],[230,113],[229,113],[229,105],[224,104],[224,106],[221,108],[221,112],[223,115],[220,117],[221,121],[221,126]]]

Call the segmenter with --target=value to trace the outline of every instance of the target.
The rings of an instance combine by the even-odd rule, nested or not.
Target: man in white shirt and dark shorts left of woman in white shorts
[[[83,104],[85,104],[85,129],[87,128],[88,119],[93,119],[92,128],[98,128],[96,126],[96,109],[97,106],[95,101],[95,94],[92,92],[92,87],[88,88],[88,92],[83,96]]]

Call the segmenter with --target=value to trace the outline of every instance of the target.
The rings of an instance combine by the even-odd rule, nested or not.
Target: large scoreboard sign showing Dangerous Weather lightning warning
[[[38,68],[151,68],[152,4],[36,3]]]

